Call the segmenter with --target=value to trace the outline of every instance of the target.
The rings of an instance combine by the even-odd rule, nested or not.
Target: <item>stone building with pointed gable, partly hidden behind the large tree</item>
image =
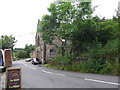
[[[38,20],[38,25],[37,25],[37,30],[40,28],[40,20]],[[58,37],[54,36],[54,40],[52,41],[52,44],[45,44],[43,39],[42,39],[42,33],[37,31],[36,36],[35,36],[35,45],[36,45],[36,50],[35,50],[35,56],[39,60],[42,61],[42,63],[47,63],[49,62],[50,58],[59,56],[59,51],[61,49],[61,46],[64,42],[64,39],[59,39]],[[67,45],[70,45],[70,42],[66,42]],[[66,49],[67,52],[69,51],[69,48]]]

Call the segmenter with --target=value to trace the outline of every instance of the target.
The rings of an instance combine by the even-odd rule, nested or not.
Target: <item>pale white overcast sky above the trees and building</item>
[[[92,0],[98,6],[93,15],[112,18],[116,15],[120,0]],[[54,0],[0,0],[0,36],[13,35],[15,48],[35,44],[38,19],[49,14],[47,8]]]

